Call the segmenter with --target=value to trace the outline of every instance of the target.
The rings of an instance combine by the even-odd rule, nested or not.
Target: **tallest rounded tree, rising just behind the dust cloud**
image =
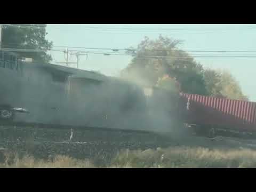
[[[177,79],[181,91],[206,94],[203,67],[187,52],[179,50],[180,44],[181,41],[162,35],[155,40],[145,37],[138,45],[138,51],[133,47],[127,51],[133,54],[133,59],[121,76],[145,86],[154,86],[158,78],[169,75]]]

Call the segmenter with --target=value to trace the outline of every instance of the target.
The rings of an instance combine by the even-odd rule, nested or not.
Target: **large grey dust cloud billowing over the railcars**
[[[1,76],[10,80],[8,84],[1,82],[1,87],[8,97],[3,97],[2,101],[30,111],[30,114],[17,114],[19,122],[145,130],[171,135],[180,135],[185,130],[179,99],[150,86],[142,77],[108,77],[98,82],[71,76],[68,88],[67,82],[38,84],[6,71],[1,70]]]

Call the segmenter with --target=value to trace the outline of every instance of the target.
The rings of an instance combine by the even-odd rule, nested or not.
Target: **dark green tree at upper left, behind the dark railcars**
[[[51,55],[47,54],[52,42],[45,39],[46,25],[11,24],[3,26],[2,47],[10,49],[32,49],[34,51],[13,51],[20,57],[33,58],[37,62],[49,62]],[[35,51],[42,50],[42,51]]]

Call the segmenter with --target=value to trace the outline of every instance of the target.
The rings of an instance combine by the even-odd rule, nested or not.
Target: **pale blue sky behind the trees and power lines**
[[[159,34],[183,40],[183,50],[254,50],[256,25],[47,25],[47,38],[55,46],[106,47],[124,49],[136,47],[144,36],[157,38]],[[53,49],[62,49],[54,47]],[[90,50],[93,51],[93,50]],[[95,51],[95,50],[94,50]],[[54,61],[63,61],[64,53],[51,51]],[[191,53],[211,54],[211,53]],[[214,53],[216,54],[216,53]],[[230,54],[230,53],[222,53]],[[255,53],[233,53],[247,55]],[[254,89],[255,58],[197,58],[204,67],[227,69],[235,76],[243,92],[256,102]],[[70,61],[75,61],[75,56]],[[127,55],[89,54],[82,56],[79,68],[97,70],[117,76],[131,60]],[[74,66],[75,67],[75,66]]]

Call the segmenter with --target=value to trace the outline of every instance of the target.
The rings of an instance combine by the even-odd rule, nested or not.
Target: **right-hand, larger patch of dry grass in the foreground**
[[[123,151],[114,167],[256,167],[256,151],[250,149],[209,150],[201,147],[170,147],[145,151]]]

